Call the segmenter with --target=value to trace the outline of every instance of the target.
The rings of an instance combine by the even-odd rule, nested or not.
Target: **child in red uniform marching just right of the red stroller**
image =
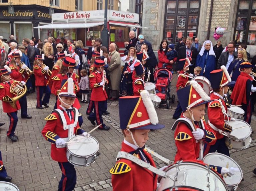
[[[179,89],[185,87],[186,83],[188,82],[188,78],[189,78],[189,73],[187,73],[187,71],[189,70],[189,66],[192,66],[192,64],[190,64],[190,61],[188,58],[180,60],[179,63],[181,63],[182,61],[184,62],[184,65],[183,65],[183,70],[181,70],[178,75],[178,80],[176,83],[176,92]],[[180,107],[180,103],[178,103],[177,108],[172,116],[172,119],[179,119],[181,113],[182,113],[182,108]]]

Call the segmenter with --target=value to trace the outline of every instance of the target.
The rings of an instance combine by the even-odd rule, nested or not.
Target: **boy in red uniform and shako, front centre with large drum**
[[[125,109],[124,109],[125,108]],[[157,113],[148,92],[143,90],[141,96],[124,96],[119,98],[120,128],[124,135],[121,151],[156,167],[151,155],[145,149],[151,129],[161,129]],[[155,191],[157,175],[129,159],[120,159],[110,170],[113,191]]]

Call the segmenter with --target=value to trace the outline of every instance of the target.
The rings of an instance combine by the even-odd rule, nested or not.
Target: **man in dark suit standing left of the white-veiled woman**
[[[189,73],[194,72],[196,57],[198,51],[195,47],[192,46],[193,39],[191,37],[187,37],[186,46],[180,47],[177,58],[176,70],[180,71],[183,69],[184,62],[179,62],[180,59],[188,58],[192,66],[189,67]]]

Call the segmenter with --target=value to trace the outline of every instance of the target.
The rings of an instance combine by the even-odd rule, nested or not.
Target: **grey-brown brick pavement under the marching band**
[[[173,82],[175,84],[175,82]],[[171,89],[171,94],[175,93],[175,87]],[[53,109],[55,98],[51,96],[50,107],[43,110],[36,109],[36,94],[27,96],[29,114],[32,120],[21,119],[18,112],[19,121],[16,134],[19,141],[12,143],[6,137],[6,125],[0,127],[0,150],[7,168],[8,175],[13,177],[12,183],[16,184],[20,191],[56,191],[61,172],[58,163],[50,157],[50,143],[41,136],[41,130],[45,125],[44,118]],[[176,146],[174,134],[171,126],[175,120],[172,115],[176,104],[171,104],[170,110],[165,108],[156,109],[159,121],[165,125],[164,129],[151,131],[147,146],[155,150],[160,155],[174,159]],[[86,119],[85,111],[87,104],[83,104],[80,112],[84,116],[84,128],[87,132],[93,129]],[[2,107],[2,103],[0,104]],[[109,116],[104,116],[104,121],[111,127],[110,131],[96,130],[91,133],[100,144],[100,157],[95,163],[87,167],[76,167],[77,185],[75,191],[111,191],[111,174],[109,169],[115,163],[115,157],[120,150],[123,136],[119,127],[118,102],[108,102]],[[9,125],[9,118],[1,110],[1,119]],[[251,123],[251,127],[256,131],[256,117]],[[242,151],[231,150],[231,157],[240,165],[244,174],[244,181],[239,184],[238,190],[256,190],[256,176],[252,170],[256,167],[256,134],[252,135],[252,143],[249,148]],[[158,167],[164,164],[155,158]]]

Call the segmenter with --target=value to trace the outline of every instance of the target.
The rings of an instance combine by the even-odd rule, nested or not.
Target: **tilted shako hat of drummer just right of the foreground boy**
[[[195,80],[190,81],[190,85],[177,91],[179,103],[183,112],[210,102],[210,97],[205,93],[203,88]]]

